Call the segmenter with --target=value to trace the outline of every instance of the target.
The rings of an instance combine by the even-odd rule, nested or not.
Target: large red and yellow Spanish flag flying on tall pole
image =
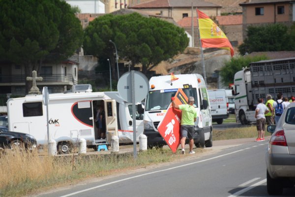
[[[231,51],[234,48],[221,29],[203,12],[197,9],[201,44],[203,48],[223,48]]]

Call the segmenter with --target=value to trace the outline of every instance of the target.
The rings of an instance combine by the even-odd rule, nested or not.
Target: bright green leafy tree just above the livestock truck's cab
[[[223,85],[228,86],[230,83],[234,83],[234,77],[237,71],[241,70],[243,67],[249,66],[251,62],[258,62],[261,60],[267,60],[267,57],[239,56],[231,58],[231,60],[226,62],[225,66],[223,66],[220,70]]]

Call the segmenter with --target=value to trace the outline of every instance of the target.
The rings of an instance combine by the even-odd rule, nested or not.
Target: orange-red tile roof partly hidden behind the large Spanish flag
[[[230,15],[230,16],[217,16],[219,25],[241,25],[243,22],[242,15]],[[184,17],[180,21],[177,21],[177,24],[180,27],[191,27],[192,26],[192,17]],[[194,17],[194,27],[197,27],[197,17]]]

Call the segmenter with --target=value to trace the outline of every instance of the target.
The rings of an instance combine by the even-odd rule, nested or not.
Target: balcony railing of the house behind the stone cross
[[[42,82],[72,82],[77,84],[78,81],[74,79],[71,74],[53,74],[53,75],[40,75],[43,77]],[[0,75],[0,83],[24,83],[26,82],[26,75]]]

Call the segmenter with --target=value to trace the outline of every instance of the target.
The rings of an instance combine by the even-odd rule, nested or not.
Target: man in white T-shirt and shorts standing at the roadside
[[[258,132],[258,137],[256,141],[265,140],[265,130],[266,130],[266,117],[265,114],[268,113],[266,105],[262,102],[262,99],[257,99],[258,105],[255,109],[255,118],[256,118],[256,128]]]

